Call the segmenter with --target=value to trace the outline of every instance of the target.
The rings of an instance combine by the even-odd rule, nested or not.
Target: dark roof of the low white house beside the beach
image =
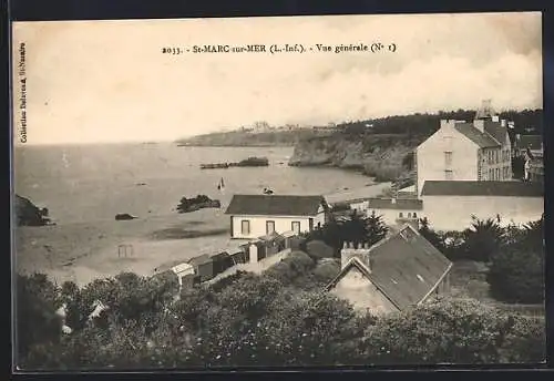
[[[315,216],[322,196],[235,195],[225,212],[229,215]]]

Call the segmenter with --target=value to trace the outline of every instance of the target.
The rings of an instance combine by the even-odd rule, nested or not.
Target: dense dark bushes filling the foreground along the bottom
[[[171,277],[123,274],[78,289],[19,276],[19,364],[133,369],[544,359],[544,320],[463,300],[388,317],[360,315],[321,294],[335,274],[318,269],[298,251],[260,276],[240,274],[225,285],[185,289],[179,300],[173,299]],[[109,309],[88,319],[95,299]],[[62,302],[79,317],[70,334],[50,319]]]

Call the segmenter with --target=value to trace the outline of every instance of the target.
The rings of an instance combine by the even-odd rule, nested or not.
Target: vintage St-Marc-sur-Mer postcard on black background
[[[14,22],[14,370],[543,363],[541,30]]]

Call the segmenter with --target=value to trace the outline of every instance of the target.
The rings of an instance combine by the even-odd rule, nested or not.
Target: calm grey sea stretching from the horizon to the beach
[[[235,193],[331,194],[370,178],[336,168],[289,167],[291,147],[178,147],[172,143],[22,146],[14,151],[14,188],[45,206],[58,224],[113,219],[116,213],[175,213],[198,194],[227,205]],[[199,169],[201,163],[266,156],[268,167]],[[224,192],[217,189],[223,178]]]

